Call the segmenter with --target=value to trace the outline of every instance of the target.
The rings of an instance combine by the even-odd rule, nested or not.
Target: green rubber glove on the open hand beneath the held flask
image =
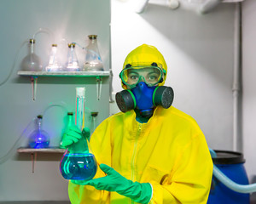
[[[100,168],[107,176],[95,178],[89,181],[72,181],[74,184],[87,184],[94,186],[97,190],[116,191],[138,203],[148,203],[152,196],[152,187],[149,183],[132,182],[121,176],[112,167],[101,164]]]

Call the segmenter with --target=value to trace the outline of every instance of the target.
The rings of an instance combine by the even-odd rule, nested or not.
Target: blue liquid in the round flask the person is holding
[[[96,174],[96,159],[93,154],[66,154],[63,156],[60,171],[63,178],[90,180]]]

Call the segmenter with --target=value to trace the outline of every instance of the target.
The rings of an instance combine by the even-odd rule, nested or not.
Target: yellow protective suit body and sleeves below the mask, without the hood
[[[207,203],[212,158],[195,120],[174,107],[156,107],[147,123],[127,111],[108,117],[92,134],[90,147],[98,163],[113,167],[125,178],[150,183],[149,203]],[[98,168],[96,178],[105,176]],[[73,204],[135,203],[116,192],[69,183]]]

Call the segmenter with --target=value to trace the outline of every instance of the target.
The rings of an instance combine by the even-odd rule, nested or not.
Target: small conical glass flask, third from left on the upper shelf
[[[75,52],[75,43],[68,43],[66,71],[80,71],[79,60]]]

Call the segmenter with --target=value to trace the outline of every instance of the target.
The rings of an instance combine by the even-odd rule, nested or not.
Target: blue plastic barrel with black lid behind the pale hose
[[[237,184],[248,184],[247,173],[244,168],[244,158],[239,152],[214,150],[216,158],[212,158],[213,163],[228,178]],[[237,193],[222,184],[217,178],[212,176],[212,186],[207,204],[249,204],[250,195]]]

